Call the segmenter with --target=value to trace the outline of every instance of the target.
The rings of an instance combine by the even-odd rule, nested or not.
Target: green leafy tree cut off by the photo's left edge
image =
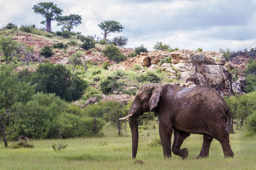
[[[13,72],[13,68],[11,65],[0,65],[0,128],[5,147],[8,146],[6,135],[15,131],[12,126],[16,115],[20,114],[18,105],[29,101],[35,91],[30,83],[18,81],[18,75]]]

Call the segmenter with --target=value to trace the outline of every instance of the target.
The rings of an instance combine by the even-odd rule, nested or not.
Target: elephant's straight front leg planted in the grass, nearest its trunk
[[[172,149],[171,149],[172,131],[173,129],[171,127],[161,127],[161,125],[159,124],[159,135],[162,142],[165,158],[169,158],[172,155]]]

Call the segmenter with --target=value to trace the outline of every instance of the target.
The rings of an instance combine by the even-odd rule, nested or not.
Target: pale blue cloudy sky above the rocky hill
[[[32,10],[39,0],[0,0],[0,26],[40,24],[45,20]],[[82,24],[73,29],[102,37],[97,26],[116,20],[123,32],[108,36],[128,37],[127,48],[141,44],[153,50],[157,41],[172,48],[204,51],[243,50],[256,47],[256,0],[51,0],[62,15],[78,14]],[[60,30],[56,22],[52,31]],[[185,29],[184,29],[185,28]],[[184,30],[183,30],[184,29]],[[183,30],[183,31],[182,31]],[[178,35],[179,34],[179,35]],[[177,36],[178,35],[178,36]],[[177,36],[177,37],[176,37]],[[176,38],[175,38],[176,37]],[[175,39],[174,39],[175,38]]]

